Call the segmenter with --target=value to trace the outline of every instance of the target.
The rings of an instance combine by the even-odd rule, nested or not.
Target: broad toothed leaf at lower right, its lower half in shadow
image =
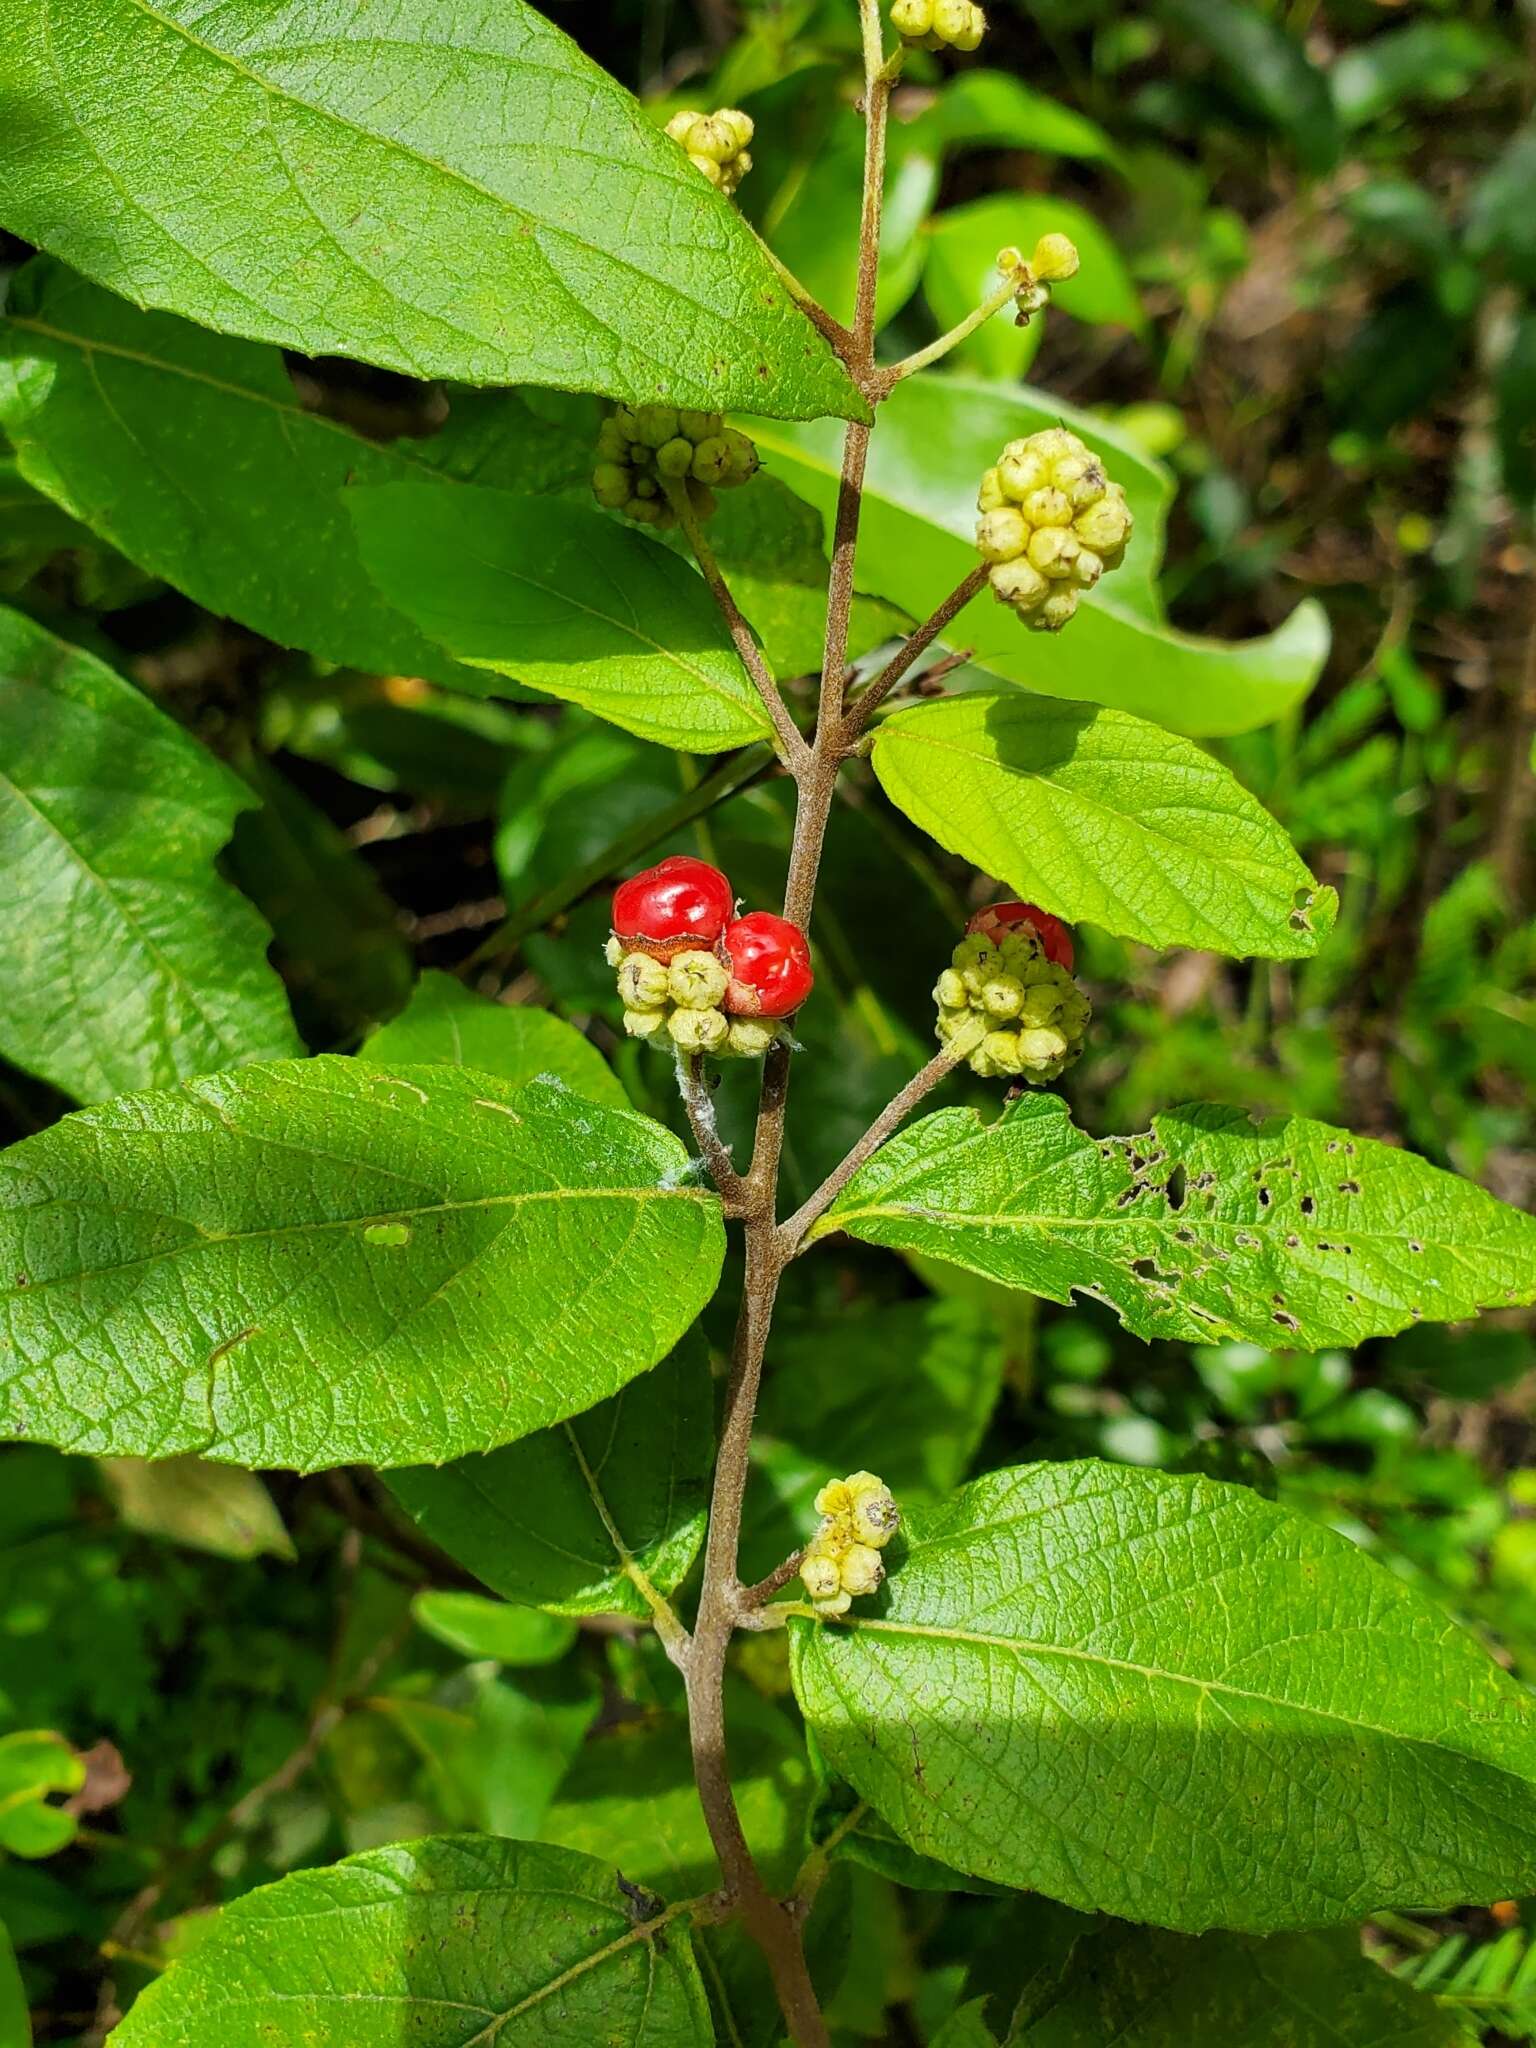
[[[1032,1464],[913,1509],[887,1561],[874,1610],[791,1622],[795,1692],[928,1855],[1184,1931],[1536,1882],[1536,1702],[1333,1530]]]

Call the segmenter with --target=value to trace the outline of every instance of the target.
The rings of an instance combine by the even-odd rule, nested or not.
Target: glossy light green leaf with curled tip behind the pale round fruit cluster
[[[1065,422],[1126,489],[1137,530],[1126,561],[1077,608],[1065,633],[1028,633],[983,592],[944,639],[975,649],[991,676],[1047,696],[1116,705],[1208,737],[1270,725],[1307,696],[1327,655],[1327,623],[1300,604],[1268,639],[1225,645],[1163,623],[1153,571],[1167,479],[1104,420],[1044,391],[952,373],[907,377],[870,442],[858,582],[922,618],[977,565],[977,485],[1004,442]],[[768,467],[831,520],[842,444],[836,428],[754,426]]]

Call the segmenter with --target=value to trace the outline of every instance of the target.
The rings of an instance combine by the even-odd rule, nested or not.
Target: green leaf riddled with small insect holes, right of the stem
[[[854,1176],[829,1231],[1188,1343],[1321,1352],[1536,1298],[1536,1219],[1397,1145],[1210,1104],[1100,1141],[1057,1096],[993,1124],[940,1110]]]

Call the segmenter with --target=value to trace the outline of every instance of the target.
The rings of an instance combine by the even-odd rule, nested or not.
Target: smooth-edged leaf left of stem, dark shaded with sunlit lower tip
[[[705,580],[633,526],[469,483],[346,506],[389,602],[471,668],[690,754],[772,731]]]

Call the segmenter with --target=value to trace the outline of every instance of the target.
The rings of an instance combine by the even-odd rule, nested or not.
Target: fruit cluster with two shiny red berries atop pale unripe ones
[[[633,1038],[739,1059],[768,1051],[815,979],[797,924],[766,909],[737,918],[729,879],[688,854],[614,889],[608,963]]]

